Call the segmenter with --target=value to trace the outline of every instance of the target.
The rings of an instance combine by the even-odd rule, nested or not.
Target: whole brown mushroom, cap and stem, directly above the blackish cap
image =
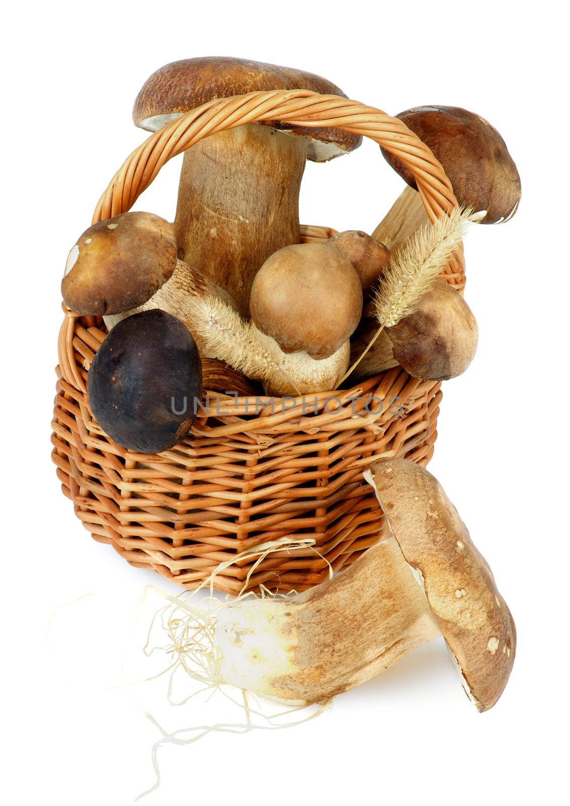
[[[61,293],[77,314],[103,314],[109,330],[138,311],[159,308],[192,332],[188,300],[196,295],[237,310],[224,289],[176,259],[172,225],[152,213],[122,213],[85,230],[69,252]],[[215,358],[197,343],[203,358]]]

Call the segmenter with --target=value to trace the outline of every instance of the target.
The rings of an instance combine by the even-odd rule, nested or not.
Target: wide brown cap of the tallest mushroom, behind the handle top
[[[142,129],[157,131],[180,114],[216,98],[271,89],[309,89],[346,98],[337,85],[304,70],[232,56],[198,56],[173,61],[156,70],[138,93],[133,120]],[[357,135],[335,128],[292,127],[279,120],[266,121],[265,125],[308,136],[308,159],[313,162],[351,152],[362,141]]]

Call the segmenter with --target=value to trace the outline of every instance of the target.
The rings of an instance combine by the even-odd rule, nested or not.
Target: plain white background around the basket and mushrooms
[[[145,584],[165,583],[89,538],[50,460],[65,258],[144,137],[130,118],[142,82],[162,64],[198,55],[320,73],[391,114],[465,106],[506,139],[522,203],[506,225],[472,227],[465,244],[480,344],[469,372],[444,384],[430,469],[494,569],[518,652],[489,713],[476,713],[443,643],[433,642],[339,696],[316,721],[165,748],[161,787],[142,802],[563,800],[570,132],[562,6],[171,0],[17,8],[2,20],[5,802],[132,803],[155,781],[159,732],[141,708],[168,730],[242,718],[204,698],[172,708],[165,679],[121,688],[161,668],[140,651],[153,606],[137,600]],[[172,218],[178,160],[135,209]],[[402,188],[368,142],[343,160],[308,164],[301,220],[371,232]]]

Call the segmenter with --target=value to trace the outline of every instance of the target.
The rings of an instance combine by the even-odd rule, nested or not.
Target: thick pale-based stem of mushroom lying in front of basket
[[[365,683],[438,635],[393,537],[295,598],[237,601],[217,620],[225,681],[287,704]]]

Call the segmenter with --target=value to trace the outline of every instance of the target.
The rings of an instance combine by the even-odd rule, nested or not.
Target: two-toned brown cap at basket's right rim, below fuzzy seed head
[[[414,313],[386,332],[394,359],[423,380],[448,380],[465,372],[479,335],[469,305],[444,280],[436,280]]]

